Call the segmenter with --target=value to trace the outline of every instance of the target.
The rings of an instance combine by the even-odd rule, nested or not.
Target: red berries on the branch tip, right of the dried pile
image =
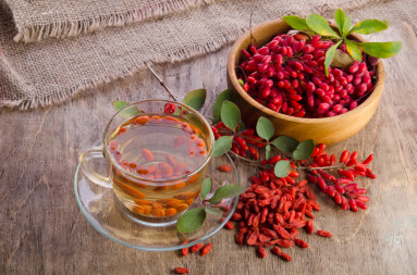
[[[319,145],[312,154],[312,164],[308,165],[311,170],[307,175],[307,179],[310,183],[317,183],[323,193],[329,195],[334,199],[334,202],[343,210],[351,209],[357,212],[360,209],[366,210],[369,201],[369,197],[365,196],[367,190],[365,188],[358,188],[358,184],[354,183],[357,176],[367,176],[376,178],[367,165],[373,160],[373,154],[370,154],[361,163],[357,161],[358,152],[354,151],[352,154],[348,151],[343,151],[340,157],[340,163],[345,168],[338,170],[338,176],[326,173],[317,167],[324,167],[334,165],[334,154],[327,154],[324,151],[326,146]],[[351,167],[351,168],[349,168]]]

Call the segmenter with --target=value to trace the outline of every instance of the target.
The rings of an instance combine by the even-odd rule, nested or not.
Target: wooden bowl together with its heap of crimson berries
[[[326,72],[326,54],[333,45],[331,39],[295,32],[282,20],[244,34],[228,61],[229,88],[244,122],[255,125],[266,116],[274,123],[275,135],[324,143],[360,130],[379,104],[383,65],[361,52],[360,62],[346,66],[343,59],[342,64],[333,60]],[[335,55],[346,53],[343,45]]]

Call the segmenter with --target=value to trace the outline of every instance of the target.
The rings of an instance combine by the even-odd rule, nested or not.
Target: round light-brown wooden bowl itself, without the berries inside
[[[275,35],[284,34],[291,27],[283,20],[263,23],[252,29],[257,45],[268,43]],[[353,35],[359,41],[361,36]],[[242,120],[249,127],[255,127],[260,116],[271,120],[275,136],[291,136],[299,141],[314,139],[316,143],[331,145],[342,141],[358,133],[370,121],[381,99],[385,73],[382,61],[377,64],[377,79],[373,91],[357,108],[344,114],[324,118],[303,118],[277,113],[253,99],[237,82],[235,68],[240,61],[241,50],[250,43],[250,32],[246,32],[233,45],[228,59],[228,86],[233,90],[236,104],[241,109]]]

